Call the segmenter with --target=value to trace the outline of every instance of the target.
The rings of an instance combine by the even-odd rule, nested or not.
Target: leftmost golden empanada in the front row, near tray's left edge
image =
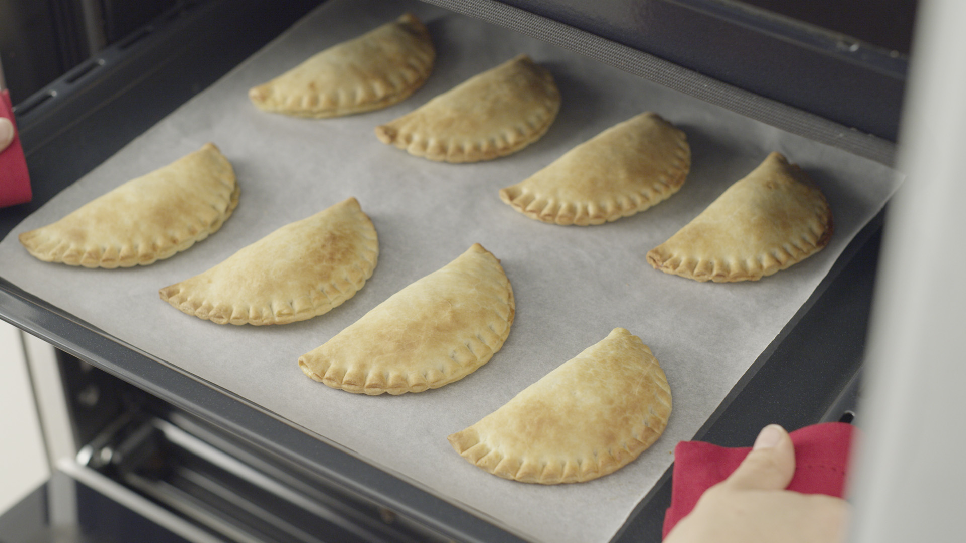
[[[44,262],[129,268],[163,260],[221,228],[239,203],[235,171],[212,143],[20,234]]]

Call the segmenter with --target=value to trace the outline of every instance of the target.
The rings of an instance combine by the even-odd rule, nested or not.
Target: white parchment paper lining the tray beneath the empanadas
[[[249,87],[405,10],[427,22],[439,52],[433,75],[409,100],[319,121],[267,114],[249,102]],[[523,152],[444,164],[376,139],[377,125],[520,52],[553,72],[563,96],[554,126]],[[500,202],[500,187],[645,110],[684,129],[691,144],[691,175],[668,201],[590,227],[544,224]],[[241,202],[204,242],[127,270],[46,264],[17,243],[16,234],[208,141],[234,164]],[[771,151],[801,164],[828,197],[836,232],[823,251],[756,283],[697,283],[647,265],[647,250]],[[694,436],[897,184],[878,163],[463,15],[417,2],[333,0],[26,218],[0,243],[0,275],[526,539],[607,541],[668,468],[674,444]],[[372,217],[381,254],[365,287],[328,314],[281,327],[217,326],[158,299],[160,287],[349,196]],[[517,299],[508,340],[477,372],[436,390],[369,397],[328,388],[298,369],[300,355],[477,242],[501,259]],[[446,442],[615,327],[651,347],[673,394],[665,435],[637,461],[588,483],[545,487],[483,472]]]

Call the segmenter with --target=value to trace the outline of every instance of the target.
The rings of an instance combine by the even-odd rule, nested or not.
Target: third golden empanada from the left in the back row
[[[604,224],[642,212],[684,184],[691,148],[684,132],[641,113],[568,151],[499,197],[530,218]]]

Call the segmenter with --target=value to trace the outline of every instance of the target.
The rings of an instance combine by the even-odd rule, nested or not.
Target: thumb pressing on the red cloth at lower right
[[[784,490],[794,474],[795,445],[784,428],[769,424],[754,440],[752,452],[723,484],[741,490]]]

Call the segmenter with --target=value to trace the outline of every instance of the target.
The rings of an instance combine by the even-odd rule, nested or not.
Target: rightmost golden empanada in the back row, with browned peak
[[[832,237],[832,210],[796,164],[772,153],[701,214],[647,252],[647,262],[697,281],[756,281],[801,262]]]

